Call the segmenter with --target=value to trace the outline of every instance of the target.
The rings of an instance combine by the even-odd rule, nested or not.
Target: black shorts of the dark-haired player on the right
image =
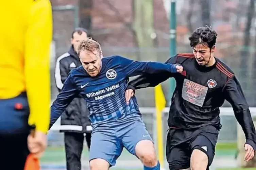
[[[208,168],[211,165],[219,131],[212,126],[195,131],[170,129],[167,133],[166,157],[170,170],[187,169],[194,149],[199,149],[208,156]],[[207,168],[207,169],[208,169]]]

